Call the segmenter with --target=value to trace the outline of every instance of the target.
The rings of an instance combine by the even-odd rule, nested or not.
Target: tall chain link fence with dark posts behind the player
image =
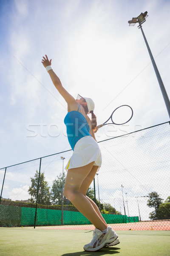
[[[88,196],[115,230],[170,230],[170,122],[99,142]],[[92,229],[63,195],[64,151],[0,169],[0,227]]]

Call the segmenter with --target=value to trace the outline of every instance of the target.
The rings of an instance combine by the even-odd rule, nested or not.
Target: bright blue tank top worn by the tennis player
[[[91,136],[89,134],[90,127],[88,122],[82,113],[79,112],[79,108],[77,111],[68,112],[65,116],[64,123],[67,128],[68,142],[73,150],[78,140],[85,136]]]

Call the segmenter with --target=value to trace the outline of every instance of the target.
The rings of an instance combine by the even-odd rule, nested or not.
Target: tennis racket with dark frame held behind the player
[[[128,105],[122,105],[116,108],[111,116],[102,125],[98,125],[99,129],[104,125],[124,125],[132,119],[133,109]]]

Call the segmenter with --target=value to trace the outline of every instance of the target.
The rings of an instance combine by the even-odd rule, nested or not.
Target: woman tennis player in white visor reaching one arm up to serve
[[[77,99],[74,99],[54,73],[51,60],[48,60],[47,55],[43,57],[42,64],[68,105],[68,113],[64,122],[73,155],[66,166],[68,172],[64,195],[95,226],[93,239],[89,244],[85,244],[84,250],[92,252],[100,250],[106,245],[118,244],[119,239],[116,232],[108,227],[94,201],[86,196],[88,188],[102,163],[101,151],[94,135],[97,125],[94,102],[90,98],[79,95]],[[91,119],[88,117],[89,113],[91,113]]]

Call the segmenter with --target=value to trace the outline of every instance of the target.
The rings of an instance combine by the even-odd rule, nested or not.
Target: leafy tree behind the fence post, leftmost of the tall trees
[[[36,203],[36,200],[37,200],[38,178],[39,178],[39,172],[36,170],[34,178],[31,178],[31,186],[28,189],[28,193],[29,195],[31,195],[31,199],[29,200],[32,203]],[[42,172],[40,173],[37,203],[51,205],[50,198],[51,198],[50,187],[48,186],[47,181],[45,181],[44,173]]]

